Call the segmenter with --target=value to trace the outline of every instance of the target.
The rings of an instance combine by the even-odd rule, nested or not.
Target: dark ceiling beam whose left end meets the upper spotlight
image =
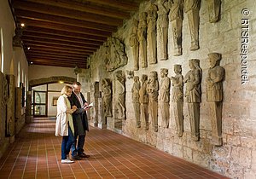
[[[17,18],[17,20],[20,21],[20,23],[24,23],[26,25],[25,29],[26,28],[28,29],[30,26],[38,26],[38,27],[43,27],[48,29],[61,30],[61,31],[67,31],[67,32],[78,32],[78,33],[101,36],[101,37],[109,37],[112,34],[112,32],[105,32],[105,31],[100,31],[95,29],[83,28],[79,26],[66,26],[66,25],[56,24],[52,22],[29,20],[25,18]]]

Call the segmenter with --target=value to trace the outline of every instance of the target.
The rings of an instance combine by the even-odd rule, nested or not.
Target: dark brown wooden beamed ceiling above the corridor
[[[86,68],[141,0],[9,0],[29,64]]]

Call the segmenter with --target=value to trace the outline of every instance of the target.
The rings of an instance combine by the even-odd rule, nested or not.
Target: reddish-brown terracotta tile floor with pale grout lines
[[[226,178],[109,130],[90,127],[89,159],[61,164],[55,119],[34,118],[0,160],[0,178]]]

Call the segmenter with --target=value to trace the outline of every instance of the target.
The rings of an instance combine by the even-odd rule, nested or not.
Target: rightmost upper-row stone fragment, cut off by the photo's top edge
[[[208,3],[209,21],[211,23],[218,22],[221,0],[209,0],[207,1],[207,3]]]

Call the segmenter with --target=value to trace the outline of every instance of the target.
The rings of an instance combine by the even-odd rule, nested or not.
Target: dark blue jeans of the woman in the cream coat
[[[67,154],[70,151],[70,147],[74,143],[73,133],[68,126],[68,136],[62,136],[62,143],[61,143],[61,159],[67,159]]]

